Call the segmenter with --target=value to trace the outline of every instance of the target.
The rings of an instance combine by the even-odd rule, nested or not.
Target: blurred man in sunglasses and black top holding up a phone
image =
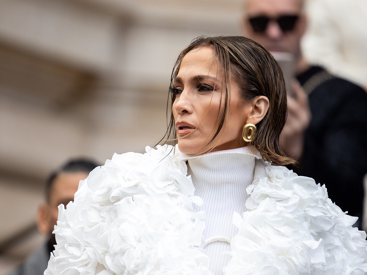
[[[275,56],[285,52],[294,60],[293,77],[302,88],[296,82],[287,89],[288,118],[281,135],[284,152],[299,162],[290,168],[325,184],[331,200],[361,218],[367,172],[367,94],[304,58],[300,46],[307,27],[303,5],[302,0],[246,0],[243,34]],[[360,219],[356,225],[361,228]]]

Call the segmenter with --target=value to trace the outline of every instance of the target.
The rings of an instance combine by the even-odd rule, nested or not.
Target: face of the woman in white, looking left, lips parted
[[[242,129],[252,107],[240,98],[236,81],[228,83],[228,90],[228,120],[217,137],[208,144],[218,129],[224,109],[224,71],[211,48],[195,49],[183,57],[172,91],[176,94],[172,112],[181,152],[196,155],[211,149],[227,150],[246,144]]]

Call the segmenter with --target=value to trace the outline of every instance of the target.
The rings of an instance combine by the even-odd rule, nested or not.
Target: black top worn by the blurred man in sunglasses
[[[367,173],[367,93],[325,73],[314,66],[297,77],[302,86],[312,87],[312,119],[299,167],[291,168],[325,184],[333,202],[349,215],[361,217]],[[324,74],[324,79],[317,74]]]

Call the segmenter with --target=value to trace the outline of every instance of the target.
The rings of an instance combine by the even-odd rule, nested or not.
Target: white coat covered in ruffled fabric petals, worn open
[[[212,274],[204,213],[192,207],[203,201],[171,149],[115,154],[81,181],[74,202],[59,206],[57,246],[44,274]],[[247,192],[248,210],[233,214],[238,233],[224,274],[367,273],[366,234],[324,186],[256,160]]]

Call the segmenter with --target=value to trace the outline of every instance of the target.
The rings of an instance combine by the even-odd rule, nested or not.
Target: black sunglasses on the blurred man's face
[[[254,31],[257,33],[263,33],[268,26],[269,21],[276,21],[280,29],[285,33],[294,29],[294,25],[299,18],[298,15],[282,15],[278,18],[269,18],[267,16],[255,16],[248,20],[250,21]]]

